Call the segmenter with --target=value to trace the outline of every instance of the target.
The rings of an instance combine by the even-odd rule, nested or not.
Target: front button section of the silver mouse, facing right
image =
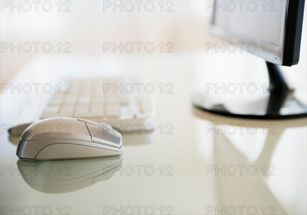
[[[89,132],[92,136],[92,141],[114,145],[116,147],[120,146],[121,135],[115,131],[103,129],[100,126],[96,126],[85,122]]]

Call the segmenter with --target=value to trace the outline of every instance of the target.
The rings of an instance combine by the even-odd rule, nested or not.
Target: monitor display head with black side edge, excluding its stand
[[[212,4],[213,33],[268,62],[286,66],[298,62],[304,1],[215,0]]]

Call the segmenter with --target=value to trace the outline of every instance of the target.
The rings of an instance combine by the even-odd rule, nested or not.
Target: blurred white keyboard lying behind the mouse
[[[55,92],[40,115],[73,117],[106,122],[117,130],[130,131],[131,125],[151,124],[152,101],[149,95],[125,93],[117,89],[104,91],[104,83],[116,86],[130,83],[120,79],[74,79],[65,81],[65,88]],[[127,126],[129,125],[129,126]]]

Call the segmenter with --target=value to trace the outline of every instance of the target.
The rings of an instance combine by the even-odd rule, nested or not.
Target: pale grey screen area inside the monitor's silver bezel
[[[215,4],[225,1],[216,1]],[[225,12],[216,11],[214,23],[251,41],[273,42],[277,47],[282,44],[282,32],[285,22],[287,1],[275,1],[267,4],[262,1],[247,1],[240,5],[225,5]],[[222,5],[221,3],[220,5]],[[234,10],[234,8],[236,10]],[[243,18],[244,17],[244,18]]]

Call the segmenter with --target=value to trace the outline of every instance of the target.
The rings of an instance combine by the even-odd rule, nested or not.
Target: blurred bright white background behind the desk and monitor
[[[17,49],[13,52],[10,49],[2,50],[1,82],[8,82],[37,54],[48,56],[57,53],[64,56],[103,53],[104,42],[152,42],[156,45],[155,52],[160,51],[158,45],[161,42],[164,42],[164,46],[166,42],[172,42],[171,50],[179,53],[204,49],[207,41],[218,39],[212,37],[209,32],[212,11],[206,4],[212,1],[153,1],[155,8],[151,12],[148,11],[150,4],[145,7],[148,1],[141,1],[140,5],[136,1],[46,2],[48,1],[38,1],[36,8],[33,1],[1,1],[1,42],[13,42],[13,45],[18,42],[21,45],[25,42],[32,44],[29,53],[22,50],[19,53]],[[127,2],[134,4],[133,11],[129,12],[131,5]],[[114,7],[120,3],[123,5],[122,12],[120,7]],[[47,12],[50,5],[52,8]],[[301,58],[299,66],[296,66],[301,73],[296,74],[294,79],[306,79],[305,20],[306,15]],[[39,44],[36,53],[33,42],[50,42],[52,51],[44,52]],[[64,44],[65,42],[69,44]],[[71,53],[63,53],[65,48],[69,48]],[[289,71],[291,69],[286,68]]]

